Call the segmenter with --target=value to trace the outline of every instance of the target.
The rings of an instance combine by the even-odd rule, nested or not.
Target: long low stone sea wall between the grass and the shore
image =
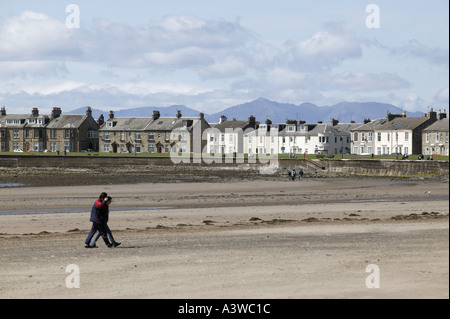
[[[320,175],[365,175],[365,176],[392,176],[392,177],[427,177],[448,176],[448,161],[431,160],[387,160],[387,159],[280,159],[265,163],[248,163],[232,159],[216,158],[214,162],[198,159],[185,159],[174,162],[169,157],[106,157],[106,156],[44,156],[27,155],[13,156],[0,155],[0,168],[96,168],[118,166],[195,166],[205,169],[236,169],[260,170],[266,172],[284,172],[303,168],[305,173]],[[272,170],[278,168],[278,170]]]

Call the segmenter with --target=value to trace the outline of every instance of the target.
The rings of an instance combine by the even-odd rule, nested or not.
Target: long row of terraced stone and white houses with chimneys
[[[449,154],[449,123],[447,114],[431,109],[423,117],[406,113],[364,123],[306,123],[288,120],[259,123],[254,116],[248,120],[208,123],[204,114],[183,117],[92,117],[86,114],[62,114],[53,108],[51,114],[0,113],[0,145],[2,152],[50,151],[105,153],[210,153],[232,154]]]

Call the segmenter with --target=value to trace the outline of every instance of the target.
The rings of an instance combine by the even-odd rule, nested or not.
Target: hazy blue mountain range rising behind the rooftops
[[[139,107],[114,112],[115,117],[151,117],[154,110],[158,110],[161,117],[173,117],[177,111],[181,111],[183,117],[198,117],[199,111],[184,105],[171,105],[167,107]],[[378,102],[341,102],[332,106],[317,106],[312,103],[299,105],[291,103],[279,103],[265,98],[235,105],[217,113],[205,114],[209,123],[217,123],[222,115],[228,120],[247,120],[253,115],[257,121],[265,122],[270,119],[273,123],[285,123],[286,120],[301,120],[307,123],[324,123],[336,119],[340,123],[355,121],[362,123],[365,119],[375,120],[386,117],[387,113],[400,114],[403,110],[392,104]],[[85,114],[86,107],[81,107],[68,112],[68,114]],[[92,109],[92,116],[98,119],[103,114],[108,119],[109,110]],[[423,112],[407,112],[408,117],[423,116]]]

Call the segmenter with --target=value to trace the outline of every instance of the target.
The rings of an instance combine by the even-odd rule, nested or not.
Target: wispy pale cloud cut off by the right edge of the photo
[[[430,48],[429,46],[412,39],[405,46],[394,48],[391,50],[392,54],[396,55],[410,55],[417,58],[423,58],[429,63],[437,65],[449,65],[448,50],[438,47]]]

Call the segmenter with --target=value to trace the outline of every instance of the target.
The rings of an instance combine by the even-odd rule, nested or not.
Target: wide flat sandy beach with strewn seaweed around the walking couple
[[[86,249],[102,191],[122,245]],[[355,178],[0,188],[0,298],[448,298],[448,194]]]

